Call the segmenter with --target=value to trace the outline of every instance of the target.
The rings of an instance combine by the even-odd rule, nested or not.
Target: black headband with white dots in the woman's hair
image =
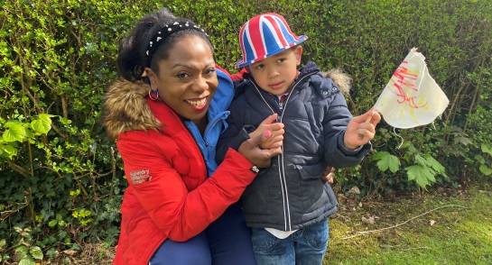
[[[151,61],[153,58],[153,53],[155,53],[155,50],[159,47],[159,44],[161,44],[162,40],[169,38],[172,33],[174,32],[180,32],[183,30],[188,30],[188,29],[194,29],[200,32],[205,33],[207,37],[209,37],[209,34],[207,34],[202,28],[200,28],[199,25],[196,25],[195,23],[191,22],[175,22],[172,24],[165,25],[160,31],[156,32],[151,41],[149,41],[149,45],[147,46],[147,50],[145,50],[145,61],[147,63],[147,67],[151,66]]]

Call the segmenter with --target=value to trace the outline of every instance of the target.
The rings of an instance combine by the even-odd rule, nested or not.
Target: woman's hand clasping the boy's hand
[[[244,155],[246,159],[256,167],[268,168],[270,167],[272,158],[282,153],[280,147],[271,149],[262,149],[260,147],[272,137],[274,137],[274,135],[270,131],[265,131],[264,133],[241,143],[237,151]]]

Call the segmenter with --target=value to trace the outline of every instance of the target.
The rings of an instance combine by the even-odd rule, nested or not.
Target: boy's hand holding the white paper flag
[[[347,125],[343,138],[345,146],[350,150],[355,150],[358,146],[373,140],[376,124],[379,121],[381,121],[381,115],[372,108],[365,114],[353,117]]]

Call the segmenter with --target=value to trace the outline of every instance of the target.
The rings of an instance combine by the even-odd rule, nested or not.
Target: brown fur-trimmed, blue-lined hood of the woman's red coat
[[[234,87],[228,75],[216,69],[218,87],[209,105],[209,114],[227,110],[234,96]],[[142,82],[116,79],[107,87],[103,105],[102,125],[111,139],[121,133],[135,130],[161,131],[164,121],[157,119],[147,104],[151,87]]]

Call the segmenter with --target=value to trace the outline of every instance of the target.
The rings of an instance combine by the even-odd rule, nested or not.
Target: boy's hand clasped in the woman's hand
[[[283,144],[283,123],[274,123],[277,116],[278,114],[269,115],[253,133],[249,133],[249,138],[255,138],[266,131],[271,133],[270,137],[260,144],[262,149],[276,149]]]

